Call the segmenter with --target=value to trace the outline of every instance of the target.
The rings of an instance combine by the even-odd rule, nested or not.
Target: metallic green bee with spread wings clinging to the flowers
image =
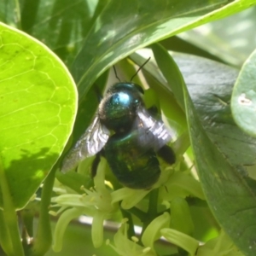
[[[171,140],[164,123],[145,108],[143,89],[131,82],[117,83],[102,98],[95,119],[67,154],[62,171],[101,154],[119,183],[149,189],[160,177],[157,156],[169,164],[175,162],[172,148],[166,146]]]

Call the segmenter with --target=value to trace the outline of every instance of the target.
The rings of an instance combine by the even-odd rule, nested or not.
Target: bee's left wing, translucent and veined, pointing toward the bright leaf
[[[108,129],[101,124],[100,119],[96,116],[92,124],[63,160],[61,172],[72,170],[80,161],[101,151],[108,142],[108,137]]]

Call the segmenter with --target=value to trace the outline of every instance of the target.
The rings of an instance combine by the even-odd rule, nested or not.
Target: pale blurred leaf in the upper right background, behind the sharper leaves
[[[255,26],[256,8],[252,7],[180,33],[178,38],[195,44],[232,66],[241,67],[256,48]]]

